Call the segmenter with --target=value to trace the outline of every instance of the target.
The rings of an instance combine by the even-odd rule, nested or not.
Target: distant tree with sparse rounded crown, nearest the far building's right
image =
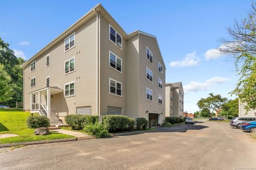
[[[210,93],[209,97],[198,100],[197,106],[199,107],[201,114],[207,113],[207,116],[212,117],[214,111],[220,109],[227,100],[227,98],[222,98],[221,95],[213,95],[213,93]],[[206,115],[204,116],[206,117]]]

